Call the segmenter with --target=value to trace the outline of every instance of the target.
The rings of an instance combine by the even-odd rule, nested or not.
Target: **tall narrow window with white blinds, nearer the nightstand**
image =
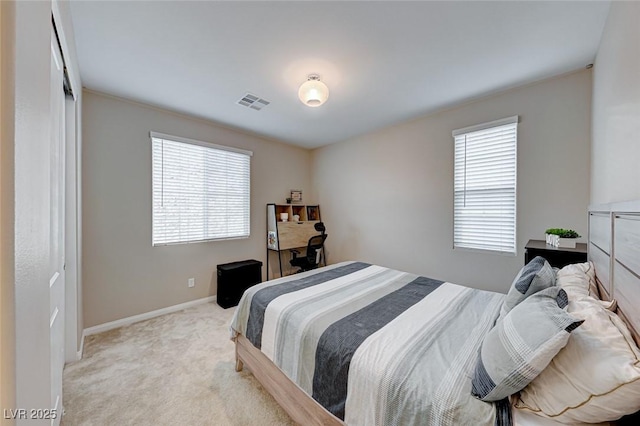
[[[516,254],[518,117],[455,130],[453,247]]]

